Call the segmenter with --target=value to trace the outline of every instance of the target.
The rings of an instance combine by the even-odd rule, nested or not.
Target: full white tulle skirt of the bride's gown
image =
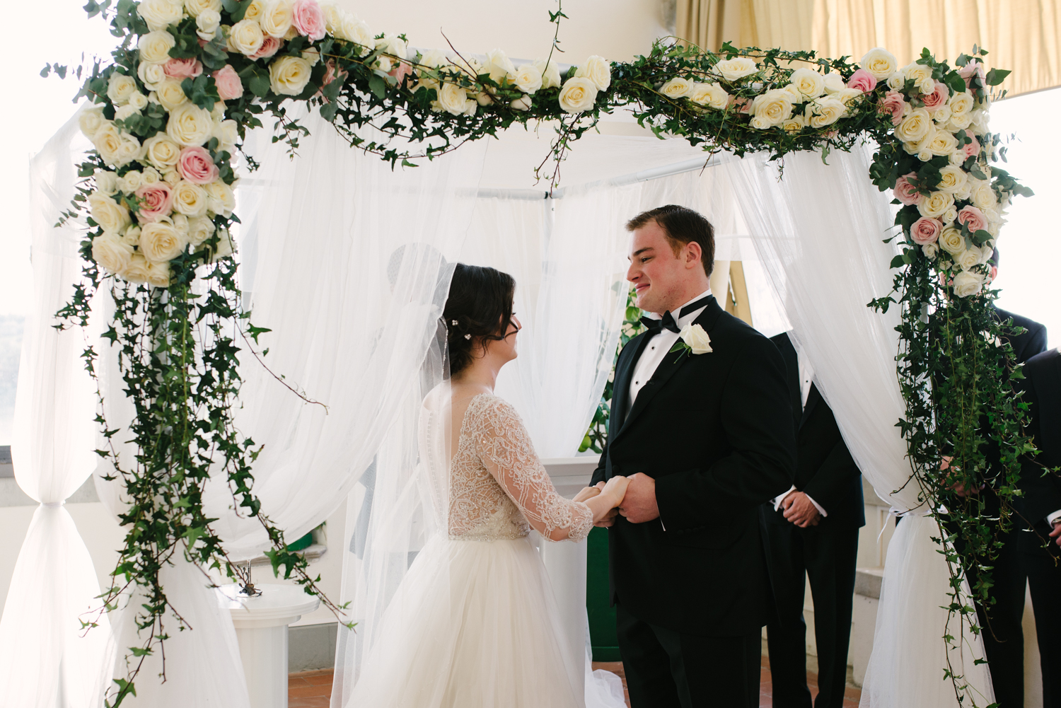
[[[388,606],[347,706],[581,708],[591,677],[586,657],[568,656],[558,617],[527,538],[436,537]]]

